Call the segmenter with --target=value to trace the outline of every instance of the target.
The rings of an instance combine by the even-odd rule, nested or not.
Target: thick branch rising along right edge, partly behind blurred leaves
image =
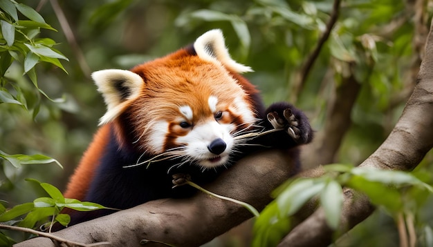
[[[413,170],[425,154],[433,148],[433,26],[425,46],[425,58],[418,72],[418,83],[407,101],[405,109],[394,130],[385,142],[360,166]],[[342,219],[337,235],[346,233],[373,213],[369,200],[353,197],[357,192],[346,189]],[[361,199],[358,199],[361,198]],[[315,229],[315,230],[312,230]],[[319,209],[292,230],[280,246],[328,246],[333,239],[323,210]],[[306,236],[306,237],[300,237]],[[294,244],[295,243],[295,244]]]

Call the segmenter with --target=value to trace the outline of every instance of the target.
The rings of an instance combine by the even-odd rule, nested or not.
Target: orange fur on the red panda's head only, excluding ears
[[[142,137],[140,144],[144,148],[152,141],[146,139],[150,137],[147,134],[151,130],[151,123],[163,120],[174,125],[183,121],[178,110],[180,106],[190,106],[194,112],[192,122],[199,123],[200,119],[213,117],[214,113],[208,105],[211,95],[218,98],[217,108],[222,109],[228,109],[234,97],[248,98],[242,87],[236,83],[240,77],[234,79],[234,74],[222,66],[192,56],[185,49],[136,66],[131,71],[145,79],[142,97],[131,102],[127,108],[128,112],[133,112],[134,119],[131,119],[131,124],[135,126],[135,135]],[[243,87],[246,91],[252,89]],[[156,98],[158,103],[155,102]],[[246,102],[251,100],[246,99]],[[232,115],[241,117],[239,114],[236,115],[236,112],[232,112]],[[181,130],[176,131],[176,134],[181,134],[179,131]],[[172,144],[167,143],[166,147],[169,146]]]

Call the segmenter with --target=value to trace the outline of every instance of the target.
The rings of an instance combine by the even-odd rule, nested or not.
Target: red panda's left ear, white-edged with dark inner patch
[[[92,78],[107,104],[100,125],[118,117],[129,102],[138,97],[144,83],[139,75],[129,70],[100,70],[93,72]]]

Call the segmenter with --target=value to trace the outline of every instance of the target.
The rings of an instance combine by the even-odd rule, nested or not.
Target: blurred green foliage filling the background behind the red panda
[[[64,188],[91,141],[104,103],[86,68],[131,68],[186,46],[207,30],[221,28],[232,57],[256,71],[246,77],[258,86],[264,101],[292,101],[300,69],[324,32],[333,8],[331,0],[71,0],[58,1],[58,6],[54,4],[57,0],[20,2],[23,4],[0,1],[0,101],[5,102],[0,103],[0,198],[8,207],[47,196],[44,190],[30,186],[26,178]],[[329,100],[342,77],[353,73],[362,84],[338,163],[359,164],[364,160],[387,137],[403,110],[408,95],[401,92],[410,92],[414,86],[419,66],[416,61],[421,56],[416,48],[422,35],[415,12],[421,12],[427,23],[432,11],[427,3],[415,7],[416,2],[342,1],[329,40],[303,90],[296,95],[293,103],[306,111],[320,132]],[[10,161],[14,163],[16,154],[44,161],[53,157],[64,170],[42,161],[15,168]],[[414,172],[415,177],[427,176],[418,178],[429,184],[432,160],[430,153]],[[304,181],[312,182],[317,183]],[[324,195],[338,198],[335,180],[318,184],[304,184],[310,186],[308,196],[325,191]],[[417,234],[431,242],[430,193],[396,193],[400,200],[407,197],[408,203],[414,204],[409,212]],[[395,246],[395,214],[387,203],[338,246]],[[335,211],[329,212],[335,215]],[[332,217],[329,221],[335,224]],[[290,226],[288,221],[278,224]],[[430,243],[427,240],[425,243]]]

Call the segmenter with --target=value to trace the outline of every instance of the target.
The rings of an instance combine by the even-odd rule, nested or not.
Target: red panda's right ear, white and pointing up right
[[[194,50],[201,59],[206,61],[218,63],[238,73],[252,72],[250,67],[237,63],[230,57],[225,48],[223,32],[219,29],[205,32],[197,38],[194,42]]]

